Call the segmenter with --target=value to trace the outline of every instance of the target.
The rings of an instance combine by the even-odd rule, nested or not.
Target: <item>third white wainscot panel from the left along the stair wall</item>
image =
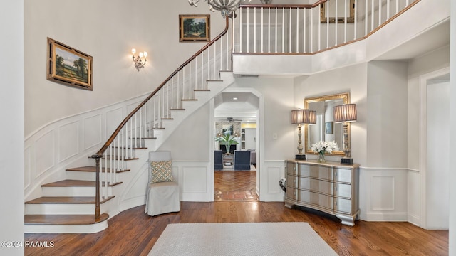
[[[79,153],[78,122],[63,124],[58,128],[58,162],[61,163]]]

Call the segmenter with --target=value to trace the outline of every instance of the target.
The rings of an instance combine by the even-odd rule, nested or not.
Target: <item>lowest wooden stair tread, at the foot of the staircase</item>
[[[98,221],[95,220],[95,215],[24,215],[24,224],[90,225],[108,218],[107,213],[101,214]]]

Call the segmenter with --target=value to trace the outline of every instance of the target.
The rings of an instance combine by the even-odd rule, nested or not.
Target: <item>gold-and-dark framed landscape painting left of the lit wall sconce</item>
[[[92,56],[48,38],[47,79],[92,90]]]

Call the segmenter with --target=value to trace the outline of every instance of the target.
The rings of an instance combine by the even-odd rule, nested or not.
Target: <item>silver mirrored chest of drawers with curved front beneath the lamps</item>
[[[336,215],[342,224],[355,225],[358,218],[358,164],[286,161],[285,206],[304,206]]]

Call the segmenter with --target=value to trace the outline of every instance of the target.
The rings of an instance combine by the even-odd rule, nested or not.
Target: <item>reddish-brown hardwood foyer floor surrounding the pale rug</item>
[[[356,221],[354,227],[323,213],[289,209],[284,203],[258,201],[182,202],[180,213],[150,217],[144,206],[125,210],[95,234],[26,234],[25,255],[147,255],[168,223],[309,223],[338,255],[448,255],[448,232],[423,230],[410,223]]]

